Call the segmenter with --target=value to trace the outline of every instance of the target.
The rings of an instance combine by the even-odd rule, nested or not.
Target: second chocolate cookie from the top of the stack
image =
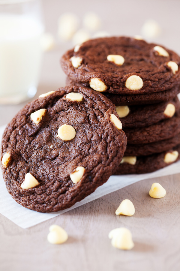
[[[66,86],[85,86],[83,83],[78,83],[67,76]],[[89,87],[90,88],[90,87]],[[164,90],[161,92],[145,93],[145,94],[112,94],[102,92],[108,99],[115,105],[140,105],[140,104],[156,104],[173,99],[180,92],[180,87],[175,86],[172,89]]]

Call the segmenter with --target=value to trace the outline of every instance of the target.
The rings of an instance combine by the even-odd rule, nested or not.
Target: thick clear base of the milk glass
[[[27,101],[30,98],[33,98],[37,92],[37,88],[32,86],[29,88],[28,92],[26,93],[19,93],[16,95],[1,97],[0,96],[0,104],[20,104],[23,101]]]

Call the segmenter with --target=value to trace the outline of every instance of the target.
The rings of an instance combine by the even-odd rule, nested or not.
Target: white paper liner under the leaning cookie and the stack
[[[0,139],[5,127],[6,125],[0,127]],[[111,176],[109,180],[104,183],[104,185],[98,187],[94,193],[87,196],[82,201],[77,202],[69,209],[56,213],[39,213],[19,205],[7,192],[4,180],[2,178],[2,173],[0,173],[0,213],[13,221],[16,225],[26,229],[140,180],[167,176],[176,173],[180,173],[180,161],[152,173]]]

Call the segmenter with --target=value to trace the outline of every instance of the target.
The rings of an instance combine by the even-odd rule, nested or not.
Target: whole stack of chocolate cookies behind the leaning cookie
[[[147,173],[180,159],[180,57],[144,40],[94,39],[67,51],[67,85],[86,86],[116,105],[128,139],[115,174]]]

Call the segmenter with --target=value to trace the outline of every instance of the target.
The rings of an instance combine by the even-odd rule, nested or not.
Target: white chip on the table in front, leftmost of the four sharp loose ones
[[[52,225],[49,228],[49,233],[47,235],[47,240],[51,244],[63,244],[67,241],[67,232],[58,225]]]

